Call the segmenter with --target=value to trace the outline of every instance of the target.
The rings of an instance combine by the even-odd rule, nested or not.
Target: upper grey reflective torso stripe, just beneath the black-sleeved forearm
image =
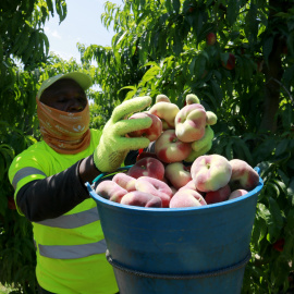
[[[94,207],[89,210],[85,210],[74,215],[64,215],[56,219],[47,219],[44,221],[38,221],[36,223],[60,229],[74,229],[98,220],[98,210],[97,207]]]

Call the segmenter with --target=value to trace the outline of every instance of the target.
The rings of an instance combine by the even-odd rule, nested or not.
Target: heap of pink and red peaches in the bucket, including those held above
[[[198,207],[246,195],[259,183],[258,173],[244,160],[212,154],[211,125],[217,115],[206,111],[197,96],[179,107],[164,95],[145,112],[128,119],[152,119],[148,130],[127,134],[154,142],[154,152],[140,152],[126,172],[101,181],[96,193],[122,205],[152,208]]]

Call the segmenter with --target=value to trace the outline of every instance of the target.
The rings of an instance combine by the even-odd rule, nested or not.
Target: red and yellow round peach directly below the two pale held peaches
[[[174,130],[163,131],[155,143],[155,154],[164,163],[182,161],[191,151],[191,143],[180,140]]]

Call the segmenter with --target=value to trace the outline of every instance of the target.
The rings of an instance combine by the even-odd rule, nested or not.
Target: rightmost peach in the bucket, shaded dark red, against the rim
[[[250,191],[258,185],[259,175],[246,161],[232,159],[230,164],[232,167],[232,176],[229,185],[232,191],[237,188]]]

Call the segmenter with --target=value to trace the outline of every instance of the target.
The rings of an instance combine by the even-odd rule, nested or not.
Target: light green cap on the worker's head
[[[91,78],[84,73],[81,72],[72,72],[72,73],[66,73],[66,74],[58,74],[56,76],[49,77],[48,79],[44,81],[38,94],[37,98],[40,99],[41,94],[50,87],[52,84],[54,84],[57,81],[61,78],[72,78],[74,79],[84,90],[88,89],[91,86]]]

